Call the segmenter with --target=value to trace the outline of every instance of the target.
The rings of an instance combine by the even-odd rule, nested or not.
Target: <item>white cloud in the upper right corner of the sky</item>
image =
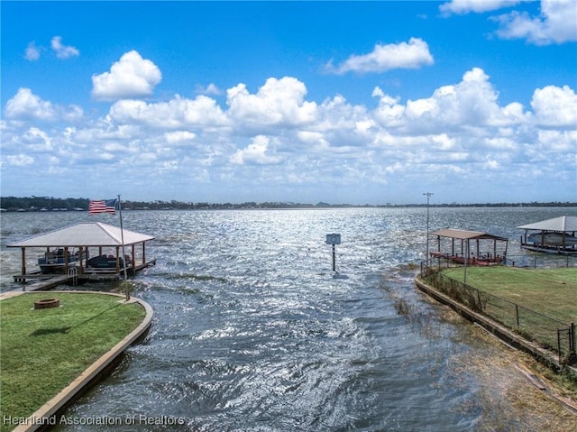
[[[500,23],[497,34],[504,39],[527,39],[536,45],[577,41],[575,0],[542,0],[539,16],[515,11],[495,20]]]

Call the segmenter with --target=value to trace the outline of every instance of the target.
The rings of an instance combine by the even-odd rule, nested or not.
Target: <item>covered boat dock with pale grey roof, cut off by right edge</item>
[[[530,251],[577,255],[577,216],[559,216],[517,226],[525,230],[521,247]]]

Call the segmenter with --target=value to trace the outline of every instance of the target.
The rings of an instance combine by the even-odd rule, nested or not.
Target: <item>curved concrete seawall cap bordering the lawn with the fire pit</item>
[[[102,291],[50,291],[50,293],[78,293],[78,294],[105,294],[124,299],[123,294],[116,294],[112,292],[102,292]],[[19,294],[26,294],[26,292],[20,292]],[[10,296],[14,297],[14,296]],[[7,298],[7,297],[6,297]],[[4,297],[2,299],[5,299]],[[60,409],[67,406],[72,400],[74,400],[78,394],[85,390],[91,381],[94,381],[102,372],[105,371],[114,361],[124,353],[124,351],[133,345],[136,341],[145,335],[152,323],[152,317],[154,316],[154,311],[151,306],[143,301],[142,299],[131,297],[128,303],[139,303],[142,308],[146,311],[146,316],[142,320],[142,323],[137,326],[129,335],[126,335],[122,341],[114,345],[114,347],[108,351],[106,354],[102,355],[95,363],[92,363],[85,372],[82,372],[78,377],[69,383],[67,387],[62,389],[56,396],[51,400],[46,402],[41,406],[40,409],[36,410],[30,417],[26,418],[22,425],[17,426],[13,429],[13,432],[32,432],[43,427],[46,427],[49,418],[56,416]]]

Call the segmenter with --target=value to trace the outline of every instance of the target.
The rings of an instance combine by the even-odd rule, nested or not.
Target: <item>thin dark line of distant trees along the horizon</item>
[[[88,211],[88,198],[53,198],[53,197],[0,197],[0,207],[3,211]],[[207,203],[207,202],[182,202],[182,201],[122,201],[122,207],[126,210],[197,210],[217,208],[323,208],[323,207],[426,207],[426,204],[383,204],[362,206],[352,204],[329,204],[319,202],[317,204],[301,204],[294,202],[245,202],[233,203]],[[527,202],[527,203],[478,203],[478,204],[430,204],[430,207],[577,207],[575,202]]]

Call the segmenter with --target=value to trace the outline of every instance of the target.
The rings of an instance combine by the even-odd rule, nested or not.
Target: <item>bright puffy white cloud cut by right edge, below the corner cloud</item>
[[[568,86],[537,88],[531,106],[536,124],[577,128],[577,95]]]

